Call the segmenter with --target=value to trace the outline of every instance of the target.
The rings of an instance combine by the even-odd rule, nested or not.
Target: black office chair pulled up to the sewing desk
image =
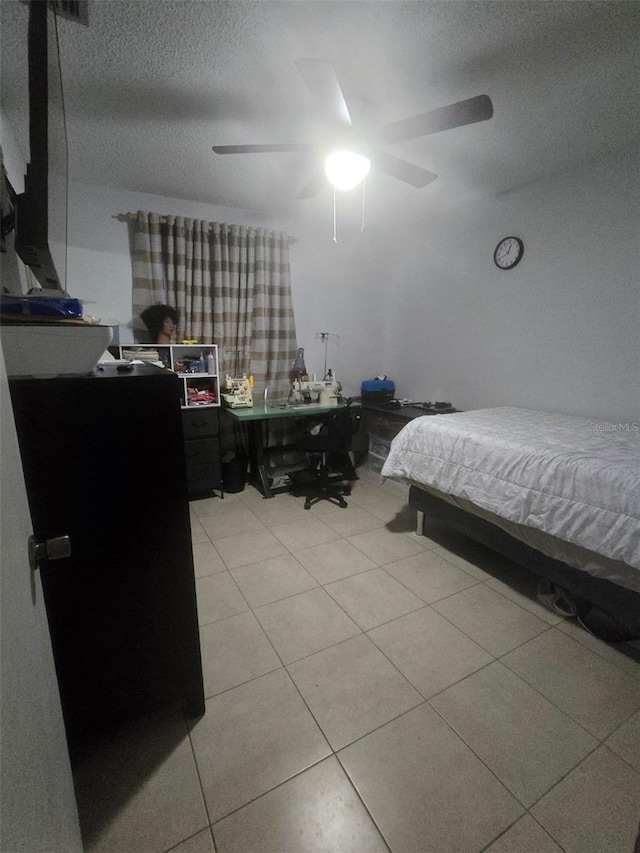
[[[295,443],[296,450],[307,454],[311,467],[289,475],[291,492],[305,497],[305,509],[321,500],[345,509],[344,495],[351,494],[351,486],[345,481],[358,479],[349,450],[360,425],[360,412],[351,408],[348,400],[346,405],[319,416],[318,421],[321,426],[317,435],[307,433]]]

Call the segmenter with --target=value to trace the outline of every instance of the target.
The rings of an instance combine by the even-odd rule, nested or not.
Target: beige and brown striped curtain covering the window
[[[133,227],[136,339],[148,341],[145,308],[171,305],[176,341],[218,344],[223,376],[253,374],[254,394],[286,399],[297,353],[288,235],[142,211]]]

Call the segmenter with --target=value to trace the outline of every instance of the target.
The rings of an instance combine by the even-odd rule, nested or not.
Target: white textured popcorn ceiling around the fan
[[[27,7],[2,0],[2,107],[26,126]],[[354,123],[378,127],[487,93],[494,117],[390,146],[438,174],[374,174],[367,197],[412,215],[509,190],[640,138],[638,2],[98,0],[59,21],[72,180],[301,214],[310,155],[214,144],[308,142],[325,128],[294,62],[333,63]]]

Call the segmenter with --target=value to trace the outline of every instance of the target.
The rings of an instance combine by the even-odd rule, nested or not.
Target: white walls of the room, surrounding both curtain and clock
[[[316,335],[330,332],[327,366],[347,394],[386,373],[398,396],[463,409],[512,404],[637,421],[639,166],[637,152],[621,153],[404,223],[380,209],[364,233],[343,227],[337,245],[330,205],[324,218],[287,219],[72,184],[68,289],[131,341],[129,229],[115,215],[283,229],[298,238],[292,285],[307,368],[322,373]],[[525,254],[504,272],[493,250],[507,234],[524,240]]]

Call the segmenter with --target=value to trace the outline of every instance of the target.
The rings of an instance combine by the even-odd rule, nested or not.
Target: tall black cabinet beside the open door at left
[[[141,365],[10,381],[70,747],[164,705],[204,712],[179,380]]]

